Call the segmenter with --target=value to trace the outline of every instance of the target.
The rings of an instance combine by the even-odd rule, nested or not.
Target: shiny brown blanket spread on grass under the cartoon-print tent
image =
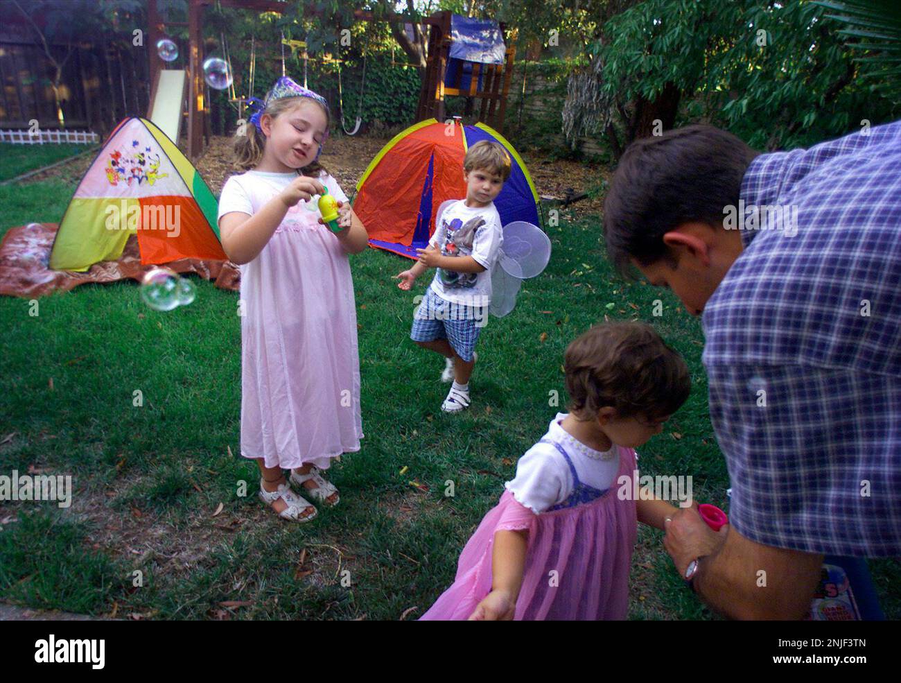
[[[138,239],[132,235],[119,260],[95,263],[84,273],[50,270],[47,264],[57,227],[57,223],[41,223],[40,230],[23,225],[6,232],[0,243],[0,295],[43,296],[54,290],[68,292],[86,282],[117,282],[126,278],[141,282],[144,273],[154,268],[141,265]],[[241,283],[241,271],[232,261],[179,259],[159,265],[215,280],[215,286],[221,289],[238,291]]]

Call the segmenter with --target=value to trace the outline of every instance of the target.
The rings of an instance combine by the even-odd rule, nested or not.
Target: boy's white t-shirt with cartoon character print
[[[432,280],[432,291],[445,301],[458,305],[489,305],[491,269],[504,243],[501,217],[495,203],[470,207],[460,199],[444,210],[440,223],[435,227],[429,243],[438,247],[442,256],[471,256],[485,270],[458,273],[437,269]]]

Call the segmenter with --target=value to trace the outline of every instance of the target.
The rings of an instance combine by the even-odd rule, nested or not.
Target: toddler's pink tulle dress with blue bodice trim
[[[491,591],[494,537],[505,529],[529,531],[523,586],[514,619],[625,618],[638,531],[635,502],[620,500],[615,485],[600,491],[582,483],[569,453],[560,442],[552,443],[569,466],[575,481],[572,493],[559,505],[536,515],[520,505],[511,491],[505,491],[463,549],[453,585],[422,620],[469,618]],[[614,482],[623,475],[631,480],[635,451],[615,448],[620,467]]]

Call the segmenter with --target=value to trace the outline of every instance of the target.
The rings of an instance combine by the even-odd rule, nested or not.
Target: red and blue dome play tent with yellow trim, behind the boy
[[[495,199],[501,223],[540,225],[538,193],[513,145],[484,123],[426,119],[389,141],[359,179],[353,210],[366,224],[369,244],[415,259],[435,230],[441,203],[466,196],[463,157],[469,145],[482,140],[504,145],[512,162],[510,178]]]

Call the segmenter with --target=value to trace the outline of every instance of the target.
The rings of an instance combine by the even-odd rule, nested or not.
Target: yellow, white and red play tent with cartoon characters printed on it
[[[116,260],[132,234],[145,265],[227,260],[210,188],[164,132],[137,117],[116,126],[78,184],[50,268],[84,271]]]

